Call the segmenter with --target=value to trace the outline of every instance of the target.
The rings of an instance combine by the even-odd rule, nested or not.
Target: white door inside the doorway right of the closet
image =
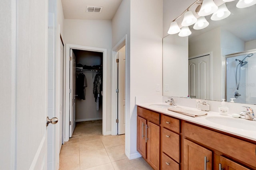
[[[125,46],[118,53],[118,135],[122,135],[125,133]]]

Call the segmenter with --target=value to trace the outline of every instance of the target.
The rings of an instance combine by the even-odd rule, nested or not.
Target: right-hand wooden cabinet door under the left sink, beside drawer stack
[[[160,157],[160,127],[154,123],[147,122],[147,160],[154,168],[159,170]]]

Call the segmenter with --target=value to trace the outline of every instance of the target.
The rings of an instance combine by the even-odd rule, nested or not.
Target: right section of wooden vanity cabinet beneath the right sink
[[[200,161],[202,157],[206,156],[206,170],[211,170],[212,165],[214,170],[222,170],[222,168],[224,170],[248,170],[245,166],[256,170],[255,143],[249,143],[188,122],[184,122],[182,127],[184,128],[184,170],[201,169],[190,167],[191,165],[194,167],[193,162],[196,161],[193,156],[190,156],[190,152],[191,155],[194,154],[195,159],[200,158]],[[207,156],[206,153],[210,153],[210,155]],[[197,154],[201,156],[199,157]],[[214,159],[212,159],[212,155]],[[220,168],[220,164],[222,168]],[[203,166],[202,162],[200,166]]]

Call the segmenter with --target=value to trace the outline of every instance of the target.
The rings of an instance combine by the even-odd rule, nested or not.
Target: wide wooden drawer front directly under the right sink
[[[256,145],[196,125],[184,123],[184,135],[198,143],[256,167]]]

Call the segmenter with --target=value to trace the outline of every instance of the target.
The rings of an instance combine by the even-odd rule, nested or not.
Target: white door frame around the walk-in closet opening
[[[102,133],[103,135],[106,134],[106,77],[107,77],[107,49],[103,48],[97,48],[97,47],[88,47],[83,45],[74,45],[74,44],[66,44],[66,82],[65,82],[65,118],[64,118],[64,136],[65,136],[65,142],[69,140],[69,107],[70,107],[70,93],[69,93],[69,83],[70,83],[70,77],[69,77],[69,67],[70,67],[70,49],[78,49],[78,50],[84,50],[84,51],[96,51],[103,53],[103,102],[102,102]]]

